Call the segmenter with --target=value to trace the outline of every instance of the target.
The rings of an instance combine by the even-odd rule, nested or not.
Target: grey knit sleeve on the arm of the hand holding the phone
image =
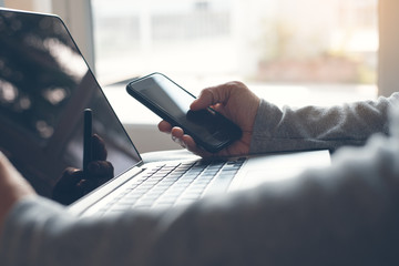
[[[250,153],[362,145],[374,133],[388,133],[388,110],[398,101],[397,92],[377,101],[279,110],[262,100]]]

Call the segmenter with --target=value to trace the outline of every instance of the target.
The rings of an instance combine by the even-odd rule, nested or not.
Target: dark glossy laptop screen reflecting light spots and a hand
[[[63,22],[0,10],[0,149],[40,195],[52,197],[66,167],[82,168],[88,108],[114,176],[137,164],[137,151]]]

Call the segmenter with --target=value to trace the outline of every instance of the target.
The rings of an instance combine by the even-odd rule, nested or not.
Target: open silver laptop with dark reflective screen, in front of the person
[[[114,112],[117,104],[105,96],[59,17],[0,9],[0,150],[40,195],[53,198],[63,171],[82,168],[83,110],[91,109],[93,132],[114,167],[110,181],[68,205],[72,213],[170,208],[330,162],[328,151],[223,160],[172,160],[166,153],[165,161],[144,162]]]

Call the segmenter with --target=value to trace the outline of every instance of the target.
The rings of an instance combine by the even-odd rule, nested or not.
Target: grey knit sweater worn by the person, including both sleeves
[[[388,133],[398,98],[283,111],[262,101],[252,153],[362,145],[291,182],[101,219],[22,201],[8,216],[0,265],[399,265],[397,126]]]

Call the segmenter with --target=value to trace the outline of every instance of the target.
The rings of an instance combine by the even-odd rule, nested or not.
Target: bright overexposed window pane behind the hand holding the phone
[[[191,91],[242,80],[280,104],[377,94],[377,0],[92,0],[110,84],[164,72]]]

